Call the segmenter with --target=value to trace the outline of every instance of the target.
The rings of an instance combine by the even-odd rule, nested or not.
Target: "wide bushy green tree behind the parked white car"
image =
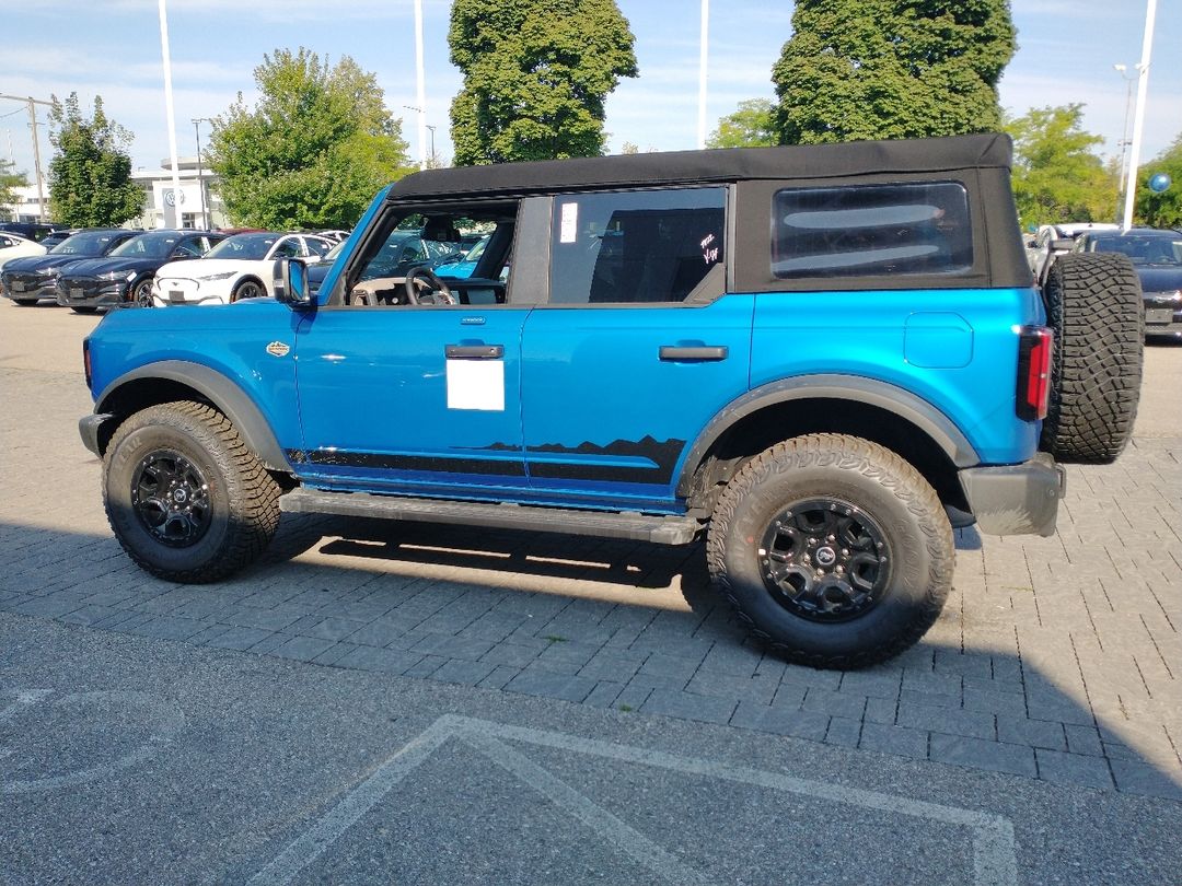
[[[372,73],[348,56],[275,50],[254,69],[260,98],[214,120],[209,169],[235,224],[350,228],[374,195],[411,171],[402,124]]]

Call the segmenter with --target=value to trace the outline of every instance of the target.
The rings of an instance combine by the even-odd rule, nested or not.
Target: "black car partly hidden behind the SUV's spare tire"
[[[1077,252],[1123,253],[1145,299],[1145,335],[1182,338],[1182,232],[1132,228],[1084,234]]]

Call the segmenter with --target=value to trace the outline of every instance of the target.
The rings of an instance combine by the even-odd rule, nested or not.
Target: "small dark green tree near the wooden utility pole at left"
[[[138,216],[148,195],[131,181],[131,157],[125,145],[131,133],[103,111],[95,97],[95,113],[82,115],[78,93],[65,103],[53,97],[50,109],[50,214],[78,228],[123,224]]]

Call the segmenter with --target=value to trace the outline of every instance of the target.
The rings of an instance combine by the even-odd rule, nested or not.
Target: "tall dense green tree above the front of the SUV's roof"
[[[637,76],[632,44],[615,0],[455,0],[456,165],[603,154],[608,93]]]

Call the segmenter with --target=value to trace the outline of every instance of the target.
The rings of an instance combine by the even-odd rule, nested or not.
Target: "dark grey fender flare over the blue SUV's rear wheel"
[[[943,412],[922,397],[889,382],[836,373],[798,376],[752,389],[723,406],[690,447],[677,480],[677,495],[690,494],[694,473],[710,447],[734,424],[767,406],[804,399],[844,399],[892,412],[927,434],[957,468],[980,464],[968,438]]]

